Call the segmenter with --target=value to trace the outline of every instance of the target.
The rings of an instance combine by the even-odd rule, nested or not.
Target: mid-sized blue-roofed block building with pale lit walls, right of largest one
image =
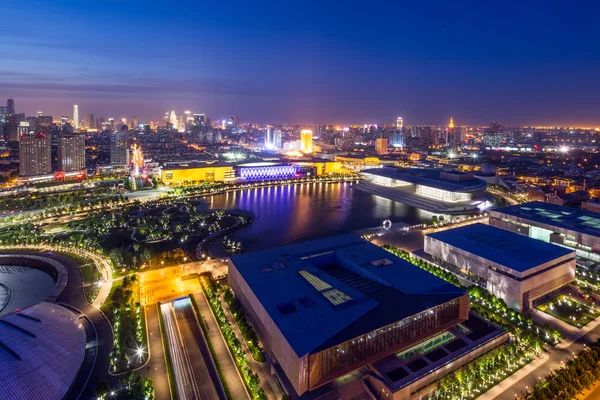
[[[575,251],[481,223],[425,236],[425,252],[526,310],[575,279]]]

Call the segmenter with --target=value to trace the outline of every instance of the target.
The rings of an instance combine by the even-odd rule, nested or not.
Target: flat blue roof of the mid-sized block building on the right
[[[481,223],[427,236],[518,272],[574,253],[564,247]]]

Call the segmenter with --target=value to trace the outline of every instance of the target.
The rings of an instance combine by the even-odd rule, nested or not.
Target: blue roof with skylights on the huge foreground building
[[[231,264],[300,357],[465,295],[353,234],[235,255]]]

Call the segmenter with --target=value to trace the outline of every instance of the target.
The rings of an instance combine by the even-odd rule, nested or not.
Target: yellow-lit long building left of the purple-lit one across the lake
[[[161,171],[161,180],[168,186],[190,186],[202,182],[225,182],[235,179],[232,165],[198,164],[165,167]]]

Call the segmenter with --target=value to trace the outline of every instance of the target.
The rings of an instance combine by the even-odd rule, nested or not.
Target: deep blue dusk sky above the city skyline
[[[600,126],[595,2],[0,2],[0,99],[160,120]]]

